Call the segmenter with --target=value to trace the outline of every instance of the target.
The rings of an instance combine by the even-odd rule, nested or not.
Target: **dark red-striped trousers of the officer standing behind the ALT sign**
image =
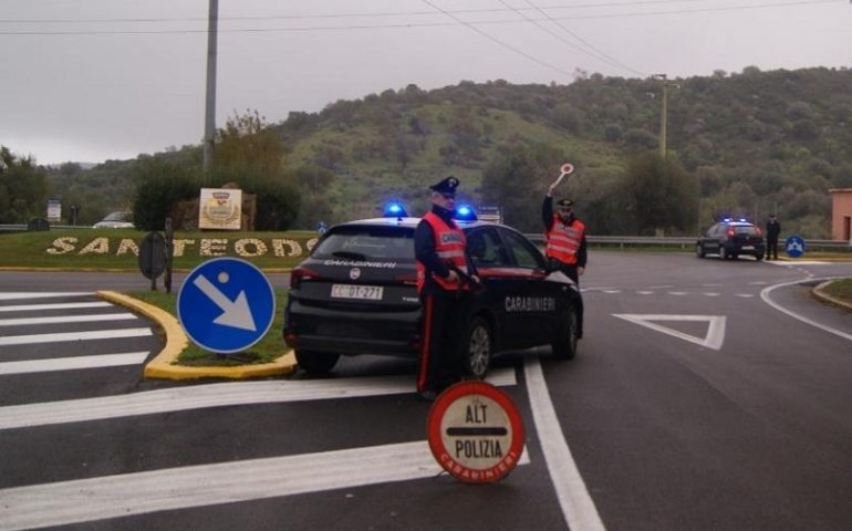
[[[440,392],[461,377],[463,327],[467,293],[434,290],[424,293],[423,345],[417,391]]]

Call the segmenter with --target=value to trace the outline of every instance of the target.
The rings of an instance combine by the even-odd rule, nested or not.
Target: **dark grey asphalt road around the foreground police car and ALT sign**
[[[239,383],[0,373],[0,530],[852,529],[852,314],[798,284],[835,275],[852,264],[593,252],[578,357],[491,372],[527,428],[496,485],[438,473],[409,362]],[[147,287],[0,272],[0,293]],[[34,334],[10,326],[0,340]],[[0,345],[0,367],[67,347]]]

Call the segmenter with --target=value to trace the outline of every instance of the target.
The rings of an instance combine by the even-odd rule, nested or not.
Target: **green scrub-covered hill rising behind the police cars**
[[[762,220],[776,211],[785,230],[830,237],[828,190],[852,187],[852,71],[747,67],[669,83],[668,154],[698,181],[696,230],[721,212]],[[622,229],[593,206],[614,192],[631,154],[658,148],[661,88],[657,80],[598,74],[569,85],[409,85],[319,113],[291,113],[271,127],[304,190],[301,228],[375,215],[388,198],[419,214],[425,187],[446,175],[461,179],[470,201],[495,201],[482,188],[489,165],[517,146],[538,146],[578,166],[563,191],[576,198],[594,233],[605,235]],[[199,150],[155,156],[197,164]],[[127,200],[134,164],[50,175],[56,195],[85,198],[100,215]],[[524,186],[531,211],[557,167]]]

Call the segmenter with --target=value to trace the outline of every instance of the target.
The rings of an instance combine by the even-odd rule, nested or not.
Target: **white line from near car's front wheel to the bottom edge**
[[[544,461],[548,464],[550,480],[553,483],[559,506],[569,529],[604,530],[598,508],[589,494],[582,476],[580,476],[574,458],[571,456],[571,449],[568,447],[559,418],[557,418],[538,357],[527,360],[523,374],[527,379],[530,409],[544,454]]]

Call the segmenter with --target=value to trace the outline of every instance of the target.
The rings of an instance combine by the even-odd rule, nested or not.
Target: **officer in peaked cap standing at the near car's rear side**
[[[476,277],[467,257],[465,233],[453,220],[458,185],[458,179],[450,176],[429,187],[432,210],[414,232],[417,291],[423,303],[417,392],[427,400],[434,400],[464,374],[461,340],[469,301],[466,280],[476,281]]]

